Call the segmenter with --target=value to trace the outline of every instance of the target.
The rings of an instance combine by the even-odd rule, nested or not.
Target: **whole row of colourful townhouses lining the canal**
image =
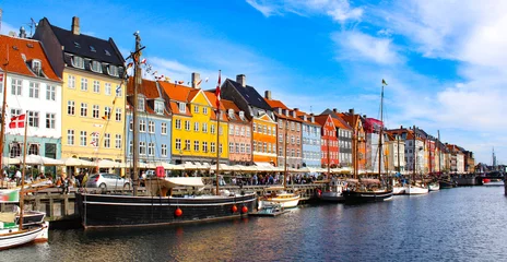
[[[387,130],[353,109],[314,115],[288,108],[270,91],[261,96],[244,74],[221,85],[220,126],[217,97],[201,88],[198,73],[190,86],[142,80],[133,108],[134,84],[122,78],[126,61],[111,38],[81,34],[78,17],[70,29],[43,19],[33,39],[23,35],[0,36],[0,50],[8,50],[0,52],[7,83],[1,97],[7,119],[27,116],[28,154],[128,163],[137,146],[144,163],[213,164],[219,155],[233,165],[424,172],[464,172],[473,162],[471,152],[422,129]],[[3,92],[3,82],[0,87]],[[132,124],[132,110],[139,112],[139,127]],[[20,156],[22,133],[3,127],[2,155]],[[137,145],[133,129],[140,134]]]

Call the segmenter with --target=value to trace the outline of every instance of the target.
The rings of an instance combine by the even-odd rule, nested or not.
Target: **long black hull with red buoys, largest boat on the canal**
[[[254,211],[256,193],[236,196],[132,196],[76,193],[84,228],[135,227],[238,217]],[[236,212],[233,206],[236,205]],[[243,207],[247,207],[247,212]],[[178,216],[176,210],[180,210]]]

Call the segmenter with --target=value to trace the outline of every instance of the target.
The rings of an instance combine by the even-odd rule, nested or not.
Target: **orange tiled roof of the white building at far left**
[[[43,45],[39,41],[0,35],[0,50],[2,50],[0,51],[1,61],[7,61],[9,57],[9,66],[7,67],[8,72],[14,72],[32,78],[61,81],[49,63],[49,59],[47,58]],[[25,59],[23,59],[23,55]],[[32,71],[31,61],[33,59],[40,60],[44,76],[37,76],[37,74]],[[3,67],[3,62],[0,67]],[[2,70],[4,70],[4,68],[2,68]]]

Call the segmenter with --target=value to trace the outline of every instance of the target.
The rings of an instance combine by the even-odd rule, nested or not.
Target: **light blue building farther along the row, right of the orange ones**
[[[302,122],[303,166],[320,167],[320,124],[315,121],[314,115],[308,115],[294,108]]]

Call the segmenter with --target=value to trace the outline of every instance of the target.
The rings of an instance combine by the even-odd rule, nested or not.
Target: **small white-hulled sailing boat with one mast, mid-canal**
[[[296,192],[287,192],[287,178],[288,178],[288,165],[287,165],[287,143],[288,143],[288,121],[286,121],[284,128],[284,169],[283,169],[283,188],[270,187],[266,190],[270,192],[268,195],[263,195],[259,202],[259,209],[270,209],[273,206],[280,206],[282,209],[293,209],[299,203],[300,195]]]

